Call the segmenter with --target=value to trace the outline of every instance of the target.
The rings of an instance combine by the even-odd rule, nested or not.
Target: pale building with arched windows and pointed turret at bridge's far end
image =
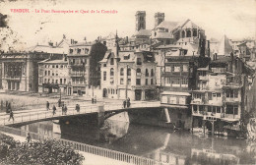
[[[156,87],[154,54],[140,49],[120,51],[117,40],[116,36],[115,46],[99,62],[103,97],[153,99]]]

